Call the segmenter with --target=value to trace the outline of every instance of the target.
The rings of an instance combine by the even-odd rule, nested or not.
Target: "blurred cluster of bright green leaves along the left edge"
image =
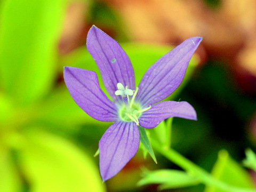
[[[1,1],[0,191],[105,191],[89,154],[49,131],[87,120],[54,89],[67,3]]]

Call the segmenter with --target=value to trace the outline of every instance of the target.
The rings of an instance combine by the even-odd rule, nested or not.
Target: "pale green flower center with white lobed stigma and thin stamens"
[[[119,110],[120,118],[123,121],[134,121],[139,126],[139,116],[142,112],[149,110],[151,106],[141,109],[141,106],[134,103],[135,96],[138,93],[139,88],[137,87],[133,93],[133,90],[128,89],[127,86],[124,88],[123,84],[118,82],[118,90],[115,92],[116,95],[121,95],[124,101],[124,106]],[[132,96],[131,100],[129,96]]]

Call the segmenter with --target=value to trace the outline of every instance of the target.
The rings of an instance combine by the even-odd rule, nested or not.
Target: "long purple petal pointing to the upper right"
[[[189,60],[202,37],[191,37],[151,65],[144,74],[137,100],[148,107],[171,95],[183,80]]]

